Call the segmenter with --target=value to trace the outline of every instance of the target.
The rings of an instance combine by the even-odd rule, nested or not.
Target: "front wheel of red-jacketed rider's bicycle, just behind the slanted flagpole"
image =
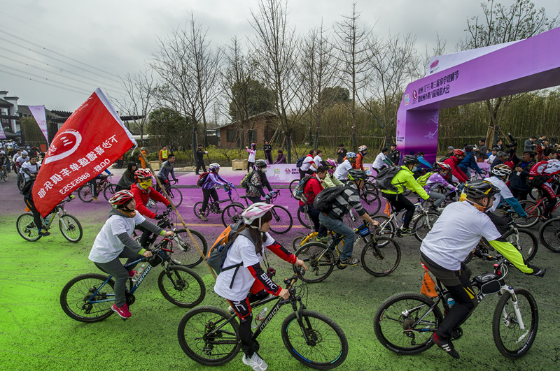
[[[208,244],[206,238],[202,233],[190,229],[190,234],[197,242],[198,247],[202,250],[202,254],[206,256],[208,252]],[[171,260],[173,263],[178,265],[184,265],[187,268],[194,268],[202,262],[202,256],[193,240],[190,239],[185,228],[178,229],[175,231],[175,236],[173,238],[174,247],[173,253],[171,254]]]

